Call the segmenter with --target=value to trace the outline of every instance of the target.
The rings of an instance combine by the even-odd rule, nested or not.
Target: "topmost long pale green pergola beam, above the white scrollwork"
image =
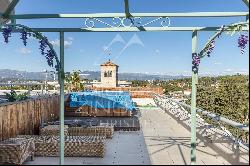
[[[243,17],[248,12],[188,12],[188,13],[129,13],[130,17]],[[126,13],[92,14],[18,14],[5,15],[9,19],[48,19],[48,18],[114,18],[126,17]],[[3,14],[0,13],[0,17]]]

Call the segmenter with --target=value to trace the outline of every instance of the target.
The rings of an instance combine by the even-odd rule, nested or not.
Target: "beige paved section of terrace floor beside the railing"
[[[141,123],[153,165],[190,164],[190,131],[160,109],[142,111]],[[196,154],[198,165],[230,164],[202,142],[197,145]]]

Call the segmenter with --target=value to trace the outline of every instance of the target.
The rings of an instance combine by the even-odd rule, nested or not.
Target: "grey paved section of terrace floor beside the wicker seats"
[[[25,165],[58,165],[58,157],[35,157]],[[115,132],[107,140],[104,158],[65,157],[66,165],[149,165],[149,155],[141,132]]]

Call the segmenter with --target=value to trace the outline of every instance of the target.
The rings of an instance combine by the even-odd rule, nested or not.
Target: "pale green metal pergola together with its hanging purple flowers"
[[[123,13],[94,13],[94,14],[13,14],[13,10],[20,0],[12,0],[7,10],[0,13],[0,19],[11,20],[0,26],[5,42],[8,42],[11,33],[21,33],[21,39],[26,45],[27,38],[33,36],[40,42],[42,55],[46,57],[48,65],[58,71],[60,83],[60,164],[64,164],[64,33],[65,32],[152,32],[152,31],[187,31],[192,33],[192,102],[191,102],[191,164],[196,163],[196,92],[198,84],[198,71],[201,60],[210,56],[216,40],[224,32],[249,31],[249,12],[193,12],[193,13],[131,13],[129,0],[124,0]],[[239,0],[240,1],[240,0]],[[249,8],[249,0],[242,0]],[[207,17],[245,17],[242,22],[218,27],[173,27],[170,18],[207,18]],[[85,19],[81,28],[32,28],[16,24],[18,19]],[[148,20],[152,21],[148,21]],[[155,24],[158,26],[154,26]],[[204,48],[198,51],[198,33],[204,31],[215,32]],[[57,32],[60,34],[60,58],[57,57],[53,46],[48,42],[42,32]],[[238,46],[243,53],[248,43],[248,36],[241,34]],[[47,52],[45,52],[45,50]],[[56,63],[54,65],[54,63]]]

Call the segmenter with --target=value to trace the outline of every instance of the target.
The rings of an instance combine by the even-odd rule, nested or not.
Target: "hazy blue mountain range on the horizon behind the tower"
[[[99,71],[84,71],[81,74],[82,78],[99,80]],[[44,72],[26,72],[18,70],[0,69],[0,79],[20,79],[20,80],[45,80],[46,74]],[[170,80],[186,78],[186,76],[170,76],[157,74],[143,74],[143,73],[119,73],[120,80]],[[48,75],[49,80],[53,80],[53,75]]]

